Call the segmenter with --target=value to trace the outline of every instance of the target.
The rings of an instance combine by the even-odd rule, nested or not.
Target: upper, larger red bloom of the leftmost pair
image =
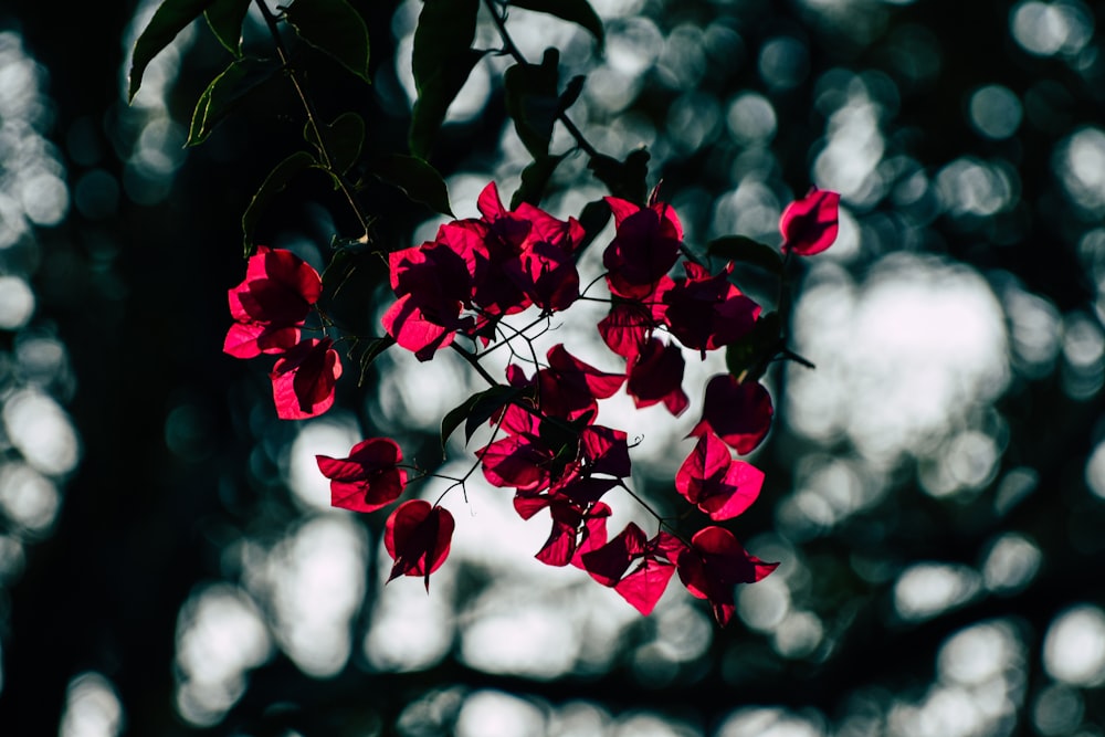
[[[234,324],[227,333],[223,351],[235,358],[253,358],[291,348],[322,291],[318,272],[299,256],[259,245],[246,264],[245,280],[227,293]]]

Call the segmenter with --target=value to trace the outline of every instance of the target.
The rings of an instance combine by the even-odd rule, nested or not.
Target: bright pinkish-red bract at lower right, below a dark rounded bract
[[[764,485],[764,472],[744,461],[734,461],[729,448],[706,432],[691,451],[678,473],[675,488],[711,519],[732,519],[751,506]]]

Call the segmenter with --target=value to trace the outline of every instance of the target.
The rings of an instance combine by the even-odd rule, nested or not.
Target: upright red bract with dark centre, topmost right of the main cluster
[[[652,295],[680,257],[683,225],[666,202],[640,208],[617,197],[606,198],[617,234],[602,253],[610,291],[620,297]]]

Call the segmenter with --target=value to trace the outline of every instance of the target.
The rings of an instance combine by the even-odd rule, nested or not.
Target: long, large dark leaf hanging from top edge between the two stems
[[[411,154],[427,159],[449,105],[484,53],[472,49],[480,0],[424,0],[414,30],[411,67],[418,98],[411,114]]]

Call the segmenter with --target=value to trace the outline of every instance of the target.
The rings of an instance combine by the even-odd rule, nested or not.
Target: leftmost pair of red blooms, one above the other
[[[301,328],[323,293],[318,272],[283,249],[257,246],[245,269],[245,280],[230,289],[234,323],[223,351],[235,358],[261,354],[280,356],[270,378],[276,414],[303,420],[334,404],[341,360],[329,337],[302,338]]]

